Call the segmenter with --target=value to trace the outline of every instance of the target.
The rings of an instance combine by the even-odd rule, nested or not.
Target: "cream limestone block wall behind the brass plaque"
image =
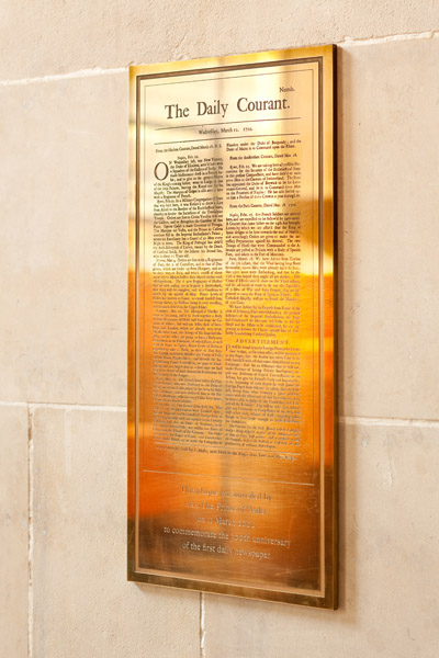
[[[439,1],[0,9],[0,655],[436,658]],[[340,609],[125,579],[130,64],[339,45]]]

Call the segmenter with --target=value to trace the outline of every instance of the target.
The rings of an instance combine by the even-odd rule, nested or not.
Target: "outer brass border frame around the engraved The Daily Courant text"
[[[319,316],[320,316],[320,409],[323,434],[324,477],[324,588],[323,594],[285,592],[258,586],[212,582],[184,576],[168,576],[138,571],[135,568],[135,489],[136,441],[138,421],[138,273],[139,273],[139,217],[138,217],[138,140],[137,110],[138,86],[143,78],[184,76],[196,72],[219,72],[238,68],[259,68],[264,64],[284,65],[291,60],[319,59]],[[221,64],[219,64],[221,63]],[[127,318],[127,579],[135,582],[196,590],[201,592],[237,595],[256,600],[275,601],[320,609],[338,606],[338,441],[337,441],[337,48],[335,45],[309,48],[270,50],[248,55],[233,55],[205,59],[182,60],[130,67],[130,128],[128,128],[128,318]],[[325,274],[330,274],[330,285],[324,285]],[[323,340],[323,336],[333,337]],[[323,377],[324,362],[333,368],[333,378]],[[325,462],[325,455],[331,455]]]

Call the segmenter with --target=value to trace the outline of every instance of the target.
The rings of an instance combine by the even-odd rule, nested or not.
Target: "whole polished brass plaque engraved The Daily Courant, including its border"
[[[130,75],[128,578],[334,609],[335,49]]]

